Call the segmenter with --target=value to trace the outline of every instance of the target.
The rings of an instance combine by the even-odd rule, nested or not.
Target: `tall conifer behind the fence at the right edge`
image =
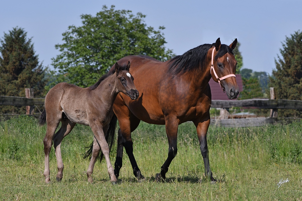
[[[275,87],[278,99],[302,100],[302,32],[296,31],[286,37],[280,49],[282,58],[275,59],[276,70],[270,77],[270,86]],[[279,113],[279,112],[278,112]],[[300,115],[298,111],[281,110],[286,117]]]

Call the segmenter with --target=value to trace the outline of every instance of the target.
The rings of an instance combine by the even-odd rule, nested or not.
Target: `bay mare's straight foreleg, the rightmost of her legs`
[[[207,147],[207,130],[210,125],[210,114],[208,113],[203,118],[197,119],[193,121],[196,130],[197,130],[197,136],[200,144],[200,151],[201,155],[204,159],[204,172],[205,176],[208,180],[216,181],[213,178],[212,171],[210,168],[210,162],[209,162],[209,151]]]

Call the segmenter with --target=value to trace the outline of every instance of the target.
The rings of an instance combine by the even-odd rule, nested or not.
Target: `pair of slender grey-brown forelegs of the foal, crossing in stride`
[[[89,163],[89,167],[87,170],[87,177],[88,177],[88,182],[92,183],[92,172],[93,172],[93,167],[95,165],[95,160],[96,157],[98,156],[99,153],[99,146],[98,144],[101,146],[101,150],[104,154],[106,163],[107,163],[107,170],[108,170],[108,174],[111,178],[111,182],[112,183],[117,183],[117,179],[114,175],[114,170],[112,168],[111,162],[110,162],[110,158],[109,158],[109,146],[108,143],[106,142],[105,139],[105,135],[102,129],[101,125],[92,125],[91,126],[93,134],[95,135],[94,140],[93,140],[93,149],[92,149],[92,157],[91,157],[91,161]]]

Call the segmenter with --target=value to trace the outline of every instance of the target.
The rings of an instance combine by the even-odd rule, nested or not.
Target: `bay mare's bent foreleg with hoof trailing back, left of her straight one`
[[[169,166],[177,154],[178,123],[179,120],[175,116],[165,117],[165,127],[169,143],[168,158],[165,160],[165,163],[160,168],[160,173],[156,174],[156,180],[166,178],[166,173],[168,172]]]

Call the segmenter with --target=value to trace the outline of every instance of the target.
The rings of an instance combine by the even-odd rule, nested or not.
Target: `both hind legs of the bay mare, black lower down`
[[[114,163],[114,174],[117,178],[120,175],[120,169],[122,167],[123,161],[123,149],[125,147],[126,153],[129,157],[133,169],[133,174],[135,177],[137,177],[138,180],[141,180],[144,179],[144,176],[141,174],[137,162],[134,158],[133,142],[131,139],[131,132],[138,127],[138,125],[140,124],[140,119],[131,114],[127,106],[119,108],[119,110],[121,109],[125,111],[119,111],[120,129],[118,130],[117,136],[117,153],[116,160]]]

